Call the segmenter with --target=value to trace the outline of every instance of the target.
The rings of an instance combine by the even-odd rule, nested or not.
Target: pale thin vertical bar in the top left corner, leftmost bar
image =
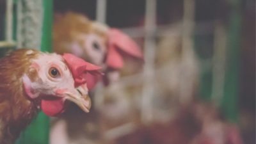
[[[12,42],[13,37],[13,1],[6,1],[6,41]]]

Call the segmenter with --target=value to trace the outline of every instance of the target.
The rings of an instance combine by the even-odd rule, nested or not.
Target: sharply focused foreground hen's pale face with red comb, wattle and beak
[[[27,54],[35,51],[29,50]],[[30,60],[22,82],[29,99],[40,100],[42,111],[56,116],[65,111],[66,101],[74,102],[88,112],[91,106],[88,97],[90,81],[97,77],[100,67],[87,63],[72,54],[46,54],[39,52]]]

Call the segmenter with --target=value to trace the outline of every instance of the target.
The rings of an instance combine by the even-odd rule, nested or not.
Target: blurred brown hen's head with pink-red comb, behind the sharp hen
[[[124,57],[143,60],[140,47],[116,28],[67,12],[56,15],[53,26],[54,52],[70,52],[104,68],[104,84],[116,81],[124,67]]]

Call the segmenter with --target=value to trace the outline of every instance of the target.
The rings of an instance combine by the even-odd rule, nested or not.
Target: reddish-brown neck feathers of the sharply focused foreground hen
[[[30,51],[30,52],[28,52]],[[0,60],[0,143],[13,143],[38,112],[37,102],[31,102],[23,89],[22,76],[29,74],[30,60],[39,51],[20,49]]]

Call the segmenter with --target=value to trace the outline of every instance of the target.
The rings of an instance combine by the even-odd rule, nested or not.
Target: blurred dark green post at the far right
[[[241,1],[230,1],[232,12],[228,24],[227,70],[221,108],[231,122],[237,122],[239,67],[241,49]]]

